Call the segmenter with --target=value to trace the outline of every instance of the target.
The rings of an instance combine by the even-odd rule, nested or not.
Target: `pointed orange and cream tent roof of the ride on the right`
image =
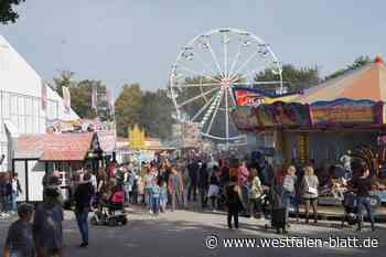
[[[304,90],[294,101],[311,104],[337,98],[386,101],[386,66],[380,57],[358,69],[347,72]]]

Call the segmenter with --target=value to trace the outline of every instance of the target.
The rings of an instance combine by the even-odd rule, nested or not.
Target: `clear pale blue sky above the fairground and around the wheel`
[[[283,63],[325,75],[385,53],[385,10],[382,0],[26,0],[0,33],[44,79],[72,71],[117,95],[125,83],[165,87],[180,49],[223,26],[250,31]]]

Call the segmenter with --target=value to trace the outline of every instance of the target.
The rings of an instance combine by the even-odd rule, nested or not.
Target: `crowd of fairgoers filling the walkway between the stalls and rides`
[[[118,164],[111,161],[98,171],[83,169],[74,178],[74,212],[82,235],[81,247],[88,246],[88,213],[103,202],[122,205],[140,205],[150,214],[159,215],[178,208],[201,208],[213,212],[227,211],[227,225],[238,228],[239,213],[250,218],[266,218],[274,210],[285,210],[286,227],[289,227],[290,206],[299,221],[299,205],[304,202],[305,224],[310,208],[318,223],[320,178],[312,161],[304,165],[268,164],[267,161],[237,159],[193,158],[189,160],[132,162]],[[369,203],[371,176],[362,164],[351,180],[358,206],[357,229],[363,228],[363,210],[368,213],[372,229],[374,215]],[[18,175],[7,174],[1,180],[2,211],[17,211],[19,219],[8,232],[4,257],[10,253],[20,256],[57,257],[63,248],[63,201],[57,174],[43,178],[43,202],[36,207],[17,205],[21,193]],[[115,200],[116,199],[116,200]],[[32,218],[32,213],[33,221]]]

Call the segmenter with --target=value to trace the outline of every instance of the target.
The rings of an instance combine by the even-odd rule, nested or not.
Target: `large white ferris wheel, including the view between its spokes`
[[[259,81],[264,71],[271,71],[275,79]],[[200,34],[182,47],[170,72],[175,117],[196,124],[203,137],[237,141],[245,136],[230,119],[234,88],[269,85],[282,93],[281,72],[270,45],[253,33],[226,28]]]

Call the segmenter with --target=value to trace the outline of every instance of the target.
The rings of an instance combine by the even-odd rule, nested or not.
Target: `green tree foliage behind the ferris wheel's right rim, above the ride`
[[[288,92],[300,92],[320,83],[319,68],[314,67],[296,67],[292,64],[285,64],[282,66],[283,86]],[[256,82],[274,82],[278,81],[278,75],[274,74],[271,69],[265,69],[256,74]],[[257,85],[256,88],[268,93],[275,93],[278,85]]]

